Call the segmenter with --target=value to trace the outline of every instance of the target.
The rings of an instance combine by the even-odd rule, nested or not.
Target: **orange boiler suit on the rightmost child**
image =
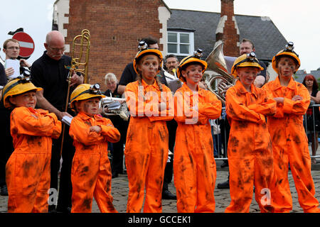
[[[309,92],[303,84],[295,82],[294,79],[290,79],[287,87],[282,87],[279,77],[265,84],[263,89],[272,97],[284,97],[284,104],[277,105],[277,114],[267,118],[274,156],[272,204],[275,211],[292,210],[289,164],[300,206],[304,212],[319,212],[319,202],[314,197],[308,139],[303,126],[303,116],[310,103]],[[293,101],[292,97],[295,95],[302,96],[302,100]]]

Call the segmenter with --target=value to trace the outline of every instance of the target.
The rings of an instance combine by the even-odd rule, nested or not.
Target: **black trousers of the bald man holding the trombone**
[[[50,188],[58,190],[58,172],[60,170],[60,148],[62,140],[62,132],[60,138],[53,140],[52,155],[51,155],[51,172],[50,172]],[[60,171],[60,184],[58,190],[58,211],[65,211],[67,207],[71,207],[71,196],[73,187],[71,183],[71,167],[73,156],[75,155],[75,147],[73,139],[69,135],[69,126],[65,126],[65,134],[63,139],[62,150],[62,166]],[[52,209],[54,205],[50,206]]]

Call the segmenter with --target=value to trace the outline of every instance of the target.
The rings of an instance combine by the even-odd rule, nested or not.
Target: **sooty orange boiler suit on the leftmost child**
[[[52,138],[61,133],[55,114],[17,107],[11,112],[14,153],[6,163],[9,213],[48,212]]]

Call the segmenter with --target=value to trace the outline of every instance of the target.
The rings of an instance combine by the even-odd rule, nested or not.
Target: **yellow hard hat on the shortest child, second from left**
[[[75,101],[91,99],[91,98],[105,98],[100,92],[100,84],[80,84],[75,88],[70,96],[70,108],[75,110]]]

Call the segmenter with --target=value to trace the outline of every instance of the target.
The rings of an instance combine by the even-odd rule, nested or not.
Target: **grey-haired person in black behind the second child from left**
[[[105,84],[107,85],[107,90],[105,91],[105,96],[111,96],[113,98],[122,98],[122,95],[118,93],[119,84],[117,84],[117,77],[113,73],[108,73],[105,75]],[[120,140],[117,143],[112,143],[112,178],[118,177],[119,174],[123,174],[123,155],[124,155],[124,144],[126,143],[127,128],[129,126],[129,121],[124,121],[119,115],[107,116],[110,118],[115,128],[120,132]]]

